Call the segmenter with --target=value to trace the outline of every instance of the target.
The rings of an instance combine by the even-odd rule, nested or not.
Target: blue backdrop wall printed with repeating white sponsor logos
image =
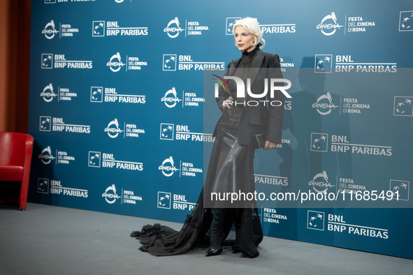
[[[31,9],[29,201],[183,222],[219,118],[212,75],[240,57],[233,23],[256,17],[292,83],[282,143],[254,159],[264,233],[413,258],[412,1]]]

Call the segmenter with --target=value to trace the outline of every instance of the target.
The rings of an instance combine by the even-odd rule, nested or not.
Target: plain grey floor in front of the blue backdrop
[[[261,255],[154,257],[132,230],[157,221],[29,203],[0,206],[0,274],[413,274],[413,260],[265,237]],[[179,229],[179,223],[161,222]]]

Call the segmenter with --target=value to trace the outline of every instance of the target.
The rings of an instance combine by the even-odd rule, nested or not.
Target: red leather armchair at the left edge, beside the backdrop
[[[0,132],[0,181],[22,182],[21,210],[25,210],[27,205],[33,141],[34,138],[28,134]]]

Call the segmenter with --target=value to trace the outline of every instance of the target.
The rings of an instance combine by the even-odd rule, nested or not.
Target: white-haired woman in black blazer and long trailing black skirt
[[[268,80],[282,78],[282,73],[277,54],[261,51],[265,40],[256,19],[238,20],[233,34],[242,56],[229,63],[225,79],[219,77],[222,86],[216,100],[222,117],[215,126],[215,143],[196,207],[180,232],[157,224],[131,234],[140,239],[140,249],[152,255],[175,255],[194,246],[208,246],[208,257],[221,254],[223,245],[232,246],[233,253],[241,252],[246,258],[259,255],[257,246],[263,232],[256,201],[245,197],[235,201],[213,200],[212,193],[255,192],[254,150],[275,149],[281,142],[284,114],[281,92],[270,97],[270,93],[263,91],[268,91]],[[246,91],[238,91],[241,80]],[[225,241],[233,225],[236,239]]]

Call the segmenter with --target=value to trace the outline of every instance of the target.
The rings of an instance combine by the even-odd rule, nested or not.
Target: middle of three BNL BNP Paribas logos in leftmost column
[[[39,131],[64,133],[90,133],[90,125],[66,124],[61,117],[40,117]]]

